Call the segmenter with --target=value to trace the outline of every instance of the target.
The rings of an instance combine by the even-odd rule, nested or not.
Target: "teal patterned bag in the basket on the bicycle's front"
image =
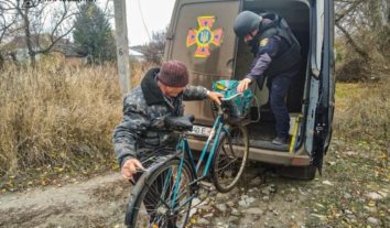
[[[239,80],[217,80],[213,82],[213,91],[218,91],[229,98],[237,95],[237,86]],[[223,101],[223,107],[230,110],[230,118],[235,120],[242,120],[250,112],[250,105],[253,99],[252,91],[247,88],[241,96],[237,96],[231,100]]]

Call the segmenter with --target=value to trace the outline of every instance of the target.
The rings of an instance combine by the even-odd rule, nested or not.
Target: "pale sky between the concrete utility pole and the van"
[[[130,46],[148,43],[148,32],[151,36],[152,32],[164,30],[171,22],[174,3],[175,0],[126,0],[128,39]],[[142,22],[140,9],[145,26]],[[115,29],[113,20],[112,29]]]

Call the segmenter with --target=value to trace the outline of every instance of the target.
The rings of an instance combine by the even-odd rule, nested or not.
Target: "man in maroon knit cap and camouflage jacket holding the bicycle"
[[[115,128],[112,143],[121,174],[127,180],[138,181],[141,176],[137,169],[143,170],[140,161],[155,152],[156,148],[176,143],[176,137],[164,127],[164,118],[182,117],[183,100],[210,98],[220,105],[219,93],[209,91],[202,86],[188,86],[186,66],[178,61],[165,62],[161,68],[150,69],[139,86],[123,99],[123,120]],[[173,152],[173,151],[172,151]],[[164,155],[164,154],[162,154]],[[155,183],[160,186],[159,183]],[[159,187],[161,189],[161,187]],[[153,197],[152,195],[149,197]],[[148,194],[143,202],[151,222],[151,208]],[[153,202],[152,198],[149,202]],[[169,228],[175,227],[172,222]]]

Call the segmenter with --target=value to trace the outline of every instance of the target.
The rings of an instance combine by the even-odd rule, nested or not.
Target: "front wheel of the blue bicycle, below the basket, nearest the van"
[[[218,192],[230,192],[241,177],[249,153],[248,131],[234,126],[229,134],[221,132],[217,151],[213,159],[214,185]]]

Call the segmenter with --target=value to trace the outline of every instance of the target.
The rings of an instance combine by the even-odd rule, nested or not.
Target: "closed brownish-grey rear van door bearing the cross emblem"
[[[176,0],[166,35],[165,61],[183,62],[189,84],[212,90],[212,82],[232,77],[239,0]],[[209,100],[185,102],[195,122],[214,122]]]

